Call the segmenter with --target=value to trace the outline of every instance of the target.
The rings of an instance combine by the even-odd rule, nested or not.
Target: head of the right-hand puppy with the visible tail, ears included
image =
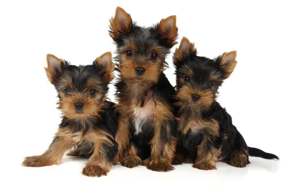
[[[215,59],[197,56],[187,38],[181,40],[173,62],[176,67],[177,98],[186,106],[209,110],[216,99],[218,88],[233,72],[236,51],[224,53]]]

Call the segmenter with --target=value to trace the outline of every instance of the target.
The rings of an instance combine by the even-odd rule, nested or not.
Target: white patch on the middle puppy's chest
[[[142,132],[142,126],[146,121],[153,115],[152,112],[155,109],[153,101],[146,103],[144,107],[135,106],[133,108],[133,125],[135,128],[135,135],[138,135]]]

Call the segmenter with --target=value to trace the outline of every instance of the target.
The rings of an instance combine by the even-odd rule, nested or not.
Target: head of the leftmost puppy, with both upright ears
[[[59,97],[59,108],[70,119],[99,116],[107,97],[107,84],[113,79],[111,53],[96,58],[92,65],[75,66],[47,55],[45,68]]]

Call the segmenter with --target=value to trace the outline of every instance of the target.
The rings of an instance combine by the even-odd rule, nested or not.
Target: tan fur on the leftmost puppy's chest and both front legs
[[[22,165],[40,167],[61,164],[61,158],[67,150],[81,144],[83,141],[87,141],[93,142],[95,145],[93,155],[89,158],[88,165],[84,168],[83,174],[88,176],[104,175],[104,172],[107,173],[109,171],[111,163],[107,161],[106,152],[101,145],[102,143],[113,144],[106,136],[111,135],[103,130],[89,130],[83,135],[83,129],[73,133],[70,128],[59,128],[56,133],[57,140],[53,140],[49,149],[42,155],[24,158]]]

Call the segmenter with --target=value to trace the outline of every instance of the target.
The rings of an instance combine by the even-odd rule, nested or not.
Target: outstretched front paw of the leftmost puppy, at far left
[[[21,165],[28,166],[28,167],[42,167],[42,166],[51,166],[53,164],[58,164],[58,163],[42,155],[35,155],[35,156],[25,157]]]

